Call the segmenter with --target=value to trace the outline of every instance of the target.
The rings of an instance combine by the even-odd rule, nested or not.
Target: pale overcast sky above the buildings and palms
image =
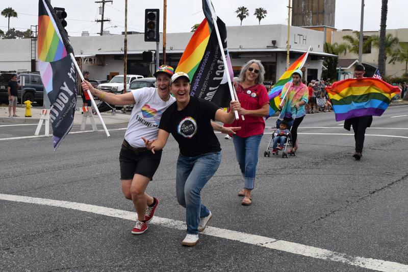
[[[97,1],[97,0],[95,0]],[[93,0],[51,0],[54,7],[63,7],[68,14],[67,31],[70,36],[80,36],[82,31],[89,31],[90,35],[97,35],[100,31],[98,7],[100,4]],[[10,28],[27,30],[32,24],[37,24],[37,0],[0,1],[0,10],[13,8],[18,18],[10,19]],[[163,0],[128,0],[127,31],[144,31],[144,9],[159,8],[161,12],[161,27],[163,30]],[[226,26],[239,26],[240,20],[235,11],[245,6],[249,10],[249,17],[242,21],[243,26],[258,24],[253,16],[256,8],[268,11],[261,24],[287,24],[287,0],[212,0],[217,15]],[[9,5],[5,5],[10,3]],[[408,0],[390,0],[388,2],[387,29],[408,28]],[[365,0],[364,30],[379,29],[381,0]],[[336,1],[336,25],[341,29],[360,30],[361,0]],[[193,24],[202,21],[204,15],[201,10],[201,0],[167,0],[167,32],[189,32]],[[124,0],[114,0],[113,4],[105,5],[105,18],[111,22],[104,23],[104,29],[113,34],[120,34],[124,29]],[[7,31],[7,18],[0,17],[0,29]]]

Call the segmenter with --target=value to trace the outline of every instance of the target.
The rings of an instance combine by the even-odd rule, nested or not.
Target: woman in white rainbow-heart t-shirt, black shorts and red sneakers
[[[135,105],[127,125],[119,155],[122,192],[126,199],[132,200],[137,212],[137,222],[132,234],[142,234],[159,204],[156,197],[145,193],[160,164],[162,151],[152,154],[146,149],[141,137],[156,139],[162,113],[175,101],[170,95],[170,78],[174,69],[168,65],[160,66],[156,72],[156,88],[141,88],[125,94],[113,94],[92,87],[89,82],[82,83],[84,90],[113,105]]]

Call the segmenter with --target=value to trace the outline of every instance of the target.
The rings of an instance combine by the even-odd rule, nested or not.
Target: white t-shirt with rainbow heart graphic
[[[148,140],[157,138],[160,118],[163,112],[174,103],[175,98],[170,95],[168,101],[163,101],[154,87],[132,90],[132,94],[136,104],[124,138],[133,147],[145,147],[141,137]]]

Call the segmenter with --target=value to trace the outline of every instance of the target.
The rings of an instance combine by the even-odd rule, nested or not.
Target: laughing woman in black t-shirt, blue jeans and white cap
[[[176,194],[177,201],[186,208],[187,236],[182,244],[191,246],[198,242],[198,232],[206,228],[212,217],[201,204],[200,192],[221,161],[221,147],[211,120],[232,123],[235,116],[233,111],[227,113],[212,102],[190,96],[190,79],[184,72],[174,73],[170,84],[176,103],[163,113],[158,138],[142,139],[153,153],[163,149],[170,133],[179,143]],[[241,108],[238,101],[231,102],[230,107],[238,111]]]

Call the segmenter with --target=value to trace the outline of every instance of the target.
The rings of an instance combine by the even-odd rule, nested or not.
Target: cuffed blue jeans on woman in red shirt
[[[257,175],[258,150],[262,135],[254,135],[242,138],[234,135],[235,154],[242,176],[244,177],[244,188],[253,189],[255,176]]]

